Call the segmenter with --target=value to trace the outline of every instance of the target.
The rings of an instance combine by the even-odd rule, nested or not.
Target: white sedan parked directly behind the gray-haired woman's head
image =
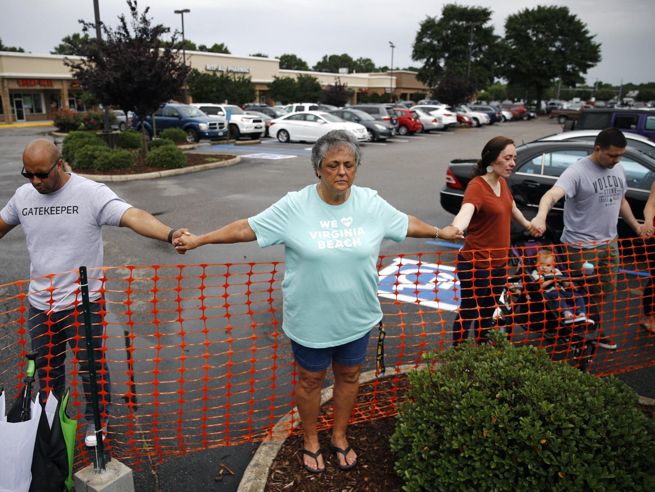
[[[360,142],[368,140],[368,132],[364,125],[350,123],[322,111],[303,111],[276,118],[269,126],[269,136],[277,137],[280,142],[291,142],[291,140],[316,142],[332,130],[347,130]]]

